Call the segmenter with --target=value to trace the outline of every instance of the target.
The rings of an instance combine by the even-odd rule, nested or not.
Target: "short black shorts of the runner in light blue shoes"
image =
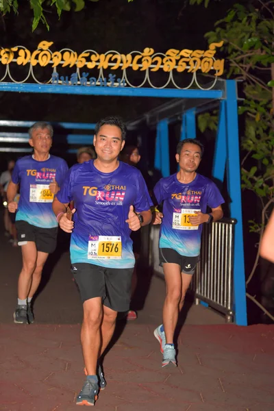
[[[200,256],[197,257],[186,257],[186,256],[181,256],[177,251],[173,249],[159,249],[159,260],[160,260],[160,266],[162,267],[162,264],[164,262],[173,262],[174,264],[178,264],[181,267],[182,273],[186,274],[194,274],[195,273],[195,267],[197,265],[197,262],[200,260]]]

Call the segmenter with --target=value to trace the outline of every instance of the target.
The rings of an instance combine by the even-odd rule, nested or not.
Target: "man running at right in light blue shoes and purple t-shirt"
[[[178,173],[160,179],[154,187],[157,203],[163,203],[163,213],[155,212],[152,220],[153,224],[162,224],[159,256],[166,282],[163,324],[154,331],[163,353],[162,366],[177,366],[174,332],[199,261],[203,223],[210,224],[223,217],[224,200],[219,189],[196,172],[202,155],[203,145],[198,140],[180,141],[175,156]]]

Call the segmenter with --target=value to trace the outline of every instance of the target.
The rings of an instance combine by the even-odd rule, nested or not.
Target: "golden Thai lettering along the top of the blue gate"
[[[45,67],[50,64],[53,68],[69,66],[77,69],[85,67],[86,69],[121,69],[123,71],[131,67],[134,71],[162,70],[166,73],[171,71],[195,73],[201,70],[202,73],[214,71],[214,75],[221,76],[224,59],[217,60],[214,55],[216,48],[222,45],[223,41],[210,44],[208,50],[169,49],[166,53],[155,53],[154,49],[146,47],[144,51],[132,51],[127,54],[116,51],[100,54],[92,50],[78,54],[70,49],[51,51],[49,48],[53,46],[53,42],[42,41],[32,52],[23,46],[2,48],[0,61],[3,65],[16,62],[19,66],[30,64],[33,67],[36,65]]]

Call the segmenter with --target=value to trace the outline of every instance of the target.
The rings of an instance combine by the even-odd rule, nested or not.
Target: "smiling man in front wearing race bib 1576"
[[[119,162],[125,125],[116,117],[95,128],[95,160],[75,164],[53,211],[71,234],[71,264],[84,308],[81,342],[86,381],[79,406],[93,406],[105,388],[99,358],[112,338],[117,312],[129,310],[135,258],[130,233],[151,221],[150,197],[140,171]],[[67,214],[74,201],[73,220]]]

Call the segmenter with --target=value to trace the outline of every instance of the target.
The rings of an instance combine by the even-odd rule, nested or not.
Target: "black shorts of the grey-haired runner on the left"
[[[58,227],[41,228],[23,220],[16,221],[15,225],[18,245],[25,245],[28,241],[33,241],[36,244],[37,251],[53,253],[56,248]]]

